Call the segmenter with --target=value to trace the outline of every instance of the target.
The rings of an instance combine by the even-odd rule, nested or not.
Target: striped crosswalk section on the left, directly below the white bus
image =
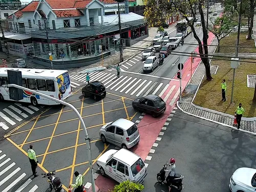
[[[4,130],[8,130],[10,126],[17,125],[22,120],[27,120],[43,107],[44,106],[35,107],[33,105],[10,102],[10,105],[0,112],[0,127]]]

